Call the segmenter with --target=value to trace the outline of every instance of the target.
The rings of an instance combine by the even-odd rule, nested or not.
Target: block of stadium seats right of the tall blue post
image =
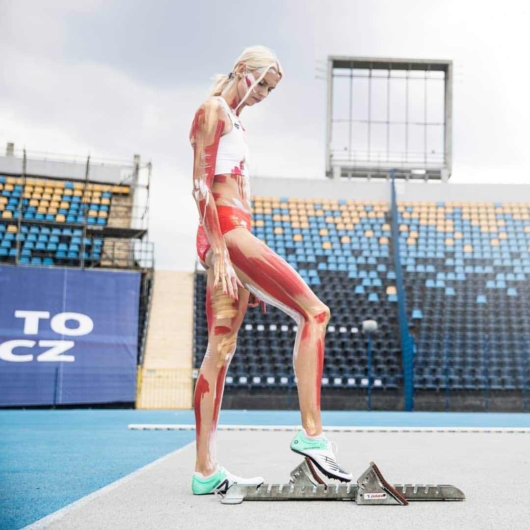
[[[523,388],[523,338],[530,335],[529,207],[398,203],[416,388],[445,387],[446,377],[454,390]]]

